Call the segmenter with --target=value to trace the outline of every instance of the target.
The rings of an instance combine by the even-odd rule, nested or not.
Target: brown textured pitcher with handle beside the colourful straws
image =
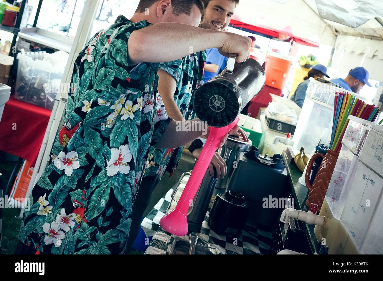
[[[306,175],[304,180],[306,181],[306,186],[310,191],[309,196],[306,201],[306,205],[310,206],[311,203],[317,204],[318,209],[322,207],[324,196],[326,195],[327,188],[329,187],[332,172],[334,172],[335,164],[338,159],[339,153],[336,153],[330,149],[327,150],[326,155],[323,156],[321,153],[316,153],[311,157],[306,169]],[[310,174],[313,169],[314,161],[322,157],[322,163],[318,170],[318,173],[315,176],[313,185],[310,184]]]

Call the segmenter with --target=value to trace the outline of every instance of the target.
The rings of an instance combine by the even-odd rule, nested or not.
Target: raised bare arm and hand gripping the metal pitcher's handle
[[[128,62],[169,62],[210,48],[224,56],[237,54],[237,62],[249,58],[251,39],[229,32],[182,23],[157,23],[133,31],[128,40]]]

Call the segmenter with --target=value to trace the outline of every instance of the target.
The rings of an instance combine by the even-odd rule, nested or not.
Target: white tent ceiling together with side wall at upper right
[[[234,19],[333,46],[339,70],[363,63],[383,81],[383,0],[241,0]]]

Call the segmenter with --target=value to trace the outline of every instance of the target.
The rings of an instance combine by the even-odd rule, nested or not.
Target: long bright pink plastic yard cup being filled
[[[222,127],[211,127],[208,140],[202,149],[201,155],[195,164],[193,171],[189,177],[188,183],[182,192],[177,206],[160,219],[160,226],[167,232],[178,236],[185,236],[188,234],[188,221],[187,211],[190,207],[191,201],[200,187],[203,176],[209,167],[214,152],[217,150],[218,144],[222,137],[226,135],[236,124],[239,118],[237,117],[233,123]]]

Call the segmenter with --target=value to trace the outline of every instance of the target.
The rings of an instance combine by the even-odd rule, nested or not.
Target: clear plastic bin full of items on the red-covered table
[[[52,109],[64,67],[53,66],[46,52],[19,53],[15,98]]]

